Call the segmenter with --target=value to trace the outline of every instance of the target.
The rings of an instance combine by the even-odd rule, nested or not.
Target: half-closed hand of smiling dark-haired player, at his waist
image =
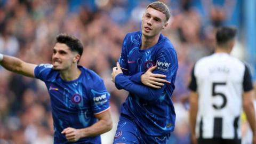
[[[81,138],[81,132],[79,129],[74,129],[72,127],[64,129],[61,133],[65,134],[69,142],[75,142]]]

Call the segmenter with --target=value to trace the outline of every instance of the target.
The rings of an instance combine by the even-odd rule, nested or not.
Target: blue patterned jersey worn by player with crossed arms
[[[175,111],[171,96],[178,69],[177,53],[173,45],[162,34],[157,44],[141,50],[141,31],[125,36],[119,63],[123,74],[115,78],[118,89],[129,91],[121,114],[129,116],[148,135],[163,135],[174,130]],[[154,74],[166,75],[167,81],[161,89],[154,89],[140,82],[141,74],[157,65]]]

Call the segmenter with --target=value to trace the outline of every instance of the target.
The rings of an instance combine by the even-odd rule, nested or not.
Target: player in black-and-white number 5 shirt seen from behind
[[[190,129],[194,144],[241,143],[242,108],[256,143],[253,86],[249,68],[229,54],[236,29],[217,30],[215,53],[195,63],[191,72]]]

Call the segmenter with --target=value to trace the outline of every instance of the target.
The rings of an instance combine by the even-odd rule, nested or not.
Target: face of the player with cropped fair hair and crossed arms
[[[164,13],[149,7],[142,17],[142,34],[148,37],[154,37],[161,33],[167,24]]]

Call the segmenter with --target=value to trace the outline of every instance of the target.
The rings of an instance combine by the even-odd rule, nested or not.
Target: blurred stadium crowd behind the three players
[[[111,68],[129,31],[140,30],[147,4],[137,0],[1,0],[0,53],[31,63],[51,63],[54,38],[68,33],[82,39],[80,62],[103,77],[111,93],[114,137],[119,109],[127,92],[110,81]],[[177,113],[169,143],[189,143],[187,84],[196,60],[214,49],[214,31],[221,25],[239,30],[233,55],[249,63],[256,80],[256,2],[242,0],[166,0],[173,17],[163,31],[178,52],[179,70],[173,101]],[[50,98],[44,83],[12,74],[0,67],[0,143],[52,143]]]

